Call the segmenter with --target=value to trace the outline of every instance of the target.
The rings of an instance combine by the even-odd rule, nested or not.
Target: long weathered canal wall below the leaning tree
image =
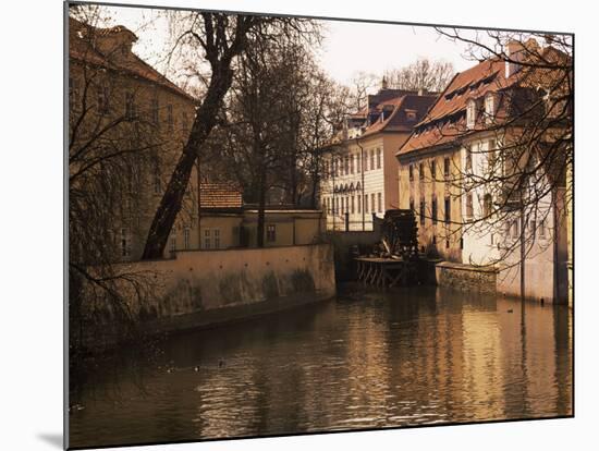
[[[173,259],[122,267],[151,279],[151,296],[130,305],[148,332],[211,326],[335,294],[329,244],[178,252]]]

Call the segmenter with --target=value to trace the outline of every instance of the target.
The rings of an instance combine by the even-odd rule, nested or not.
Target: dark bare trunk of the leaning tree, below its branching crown
[[[171,229],[176,216],[181,211],[183,196],[190,183],[190,176],[197,160],[199,148],[215,126],[217,113],[221,108],[222,100],[231,86],[232,80],[233,72],[229,64],[227,66],[221,65],[212,73],[206,98],[197,110],[187,144],[183,148],[183,154],[179,158],[164,195],[154,216],[142,259],[162,257]]]

